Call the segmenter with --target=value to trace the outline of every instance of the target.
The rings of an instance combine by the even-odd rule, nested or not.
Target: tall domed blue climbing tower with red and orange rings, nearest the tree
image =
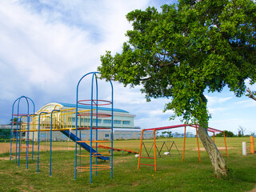
[[[76,93],[76,113],[75,113],[75,170],[74,170],[74,178],[77,178],[77,170],[83,171],[83,170],[90,170],[90,182],[91,182],[91,176],[92,176],[92,171],[95,171],[95,174],[97,175],[97,171],[98,170],[111,170],[111,178],[113,178],[113,85],[112,82],[110,82],[110,87],[111,87],[111,101],[106,101],[106,100],[101,100],[98,99],[98,78],[97,78],[97,74],[99,74],[98,72],[91,72],[89,74],[85,74],[78,82],[78,86],[77,86],[77,93]],[[86,100],[79,100],[78,99],[78,90],[79,90],[79,86],[80,83],[82,82],[82,79],[85,78],[86,76],[91,75],[91,90],[90,90],[90,99],[86,99]],[[95,87],[94,87],[94,80],[95,80]],[[95,90],[94,90],[95,88]],[[89,113],[80,113],[78,112],[78,104],[80,105],[87,105],[90,106],[90,110]],[[107,106],[110,105],[111,106],[111,114],[104,114],[104,113],[98,113],[98,106]],[[87,157],[86,155],[81,154],[81,150],[79,150],[79,154],[78,154],[78,143],[86,143],[88,141],[78,141],[78,129],[82,129],[81,124],[78,124],[78,117],[79,118],[88,118],[90,117],[91,121],[90,121],[90,166],[81,166],[81,157]],[[93,117],[96,120],[96,125],[93,126]],[[101,129],[98,127],[98,118],[111,118],[111,140],[110,141],[98,141],[98,130]],[[89,121],[87,121],[89,122]],[[93,136],[92,136],[92,130],[96,130],[96,139],[93,141]],[[97,152],[98,150],[98,142],[111,142],[111,154],[110,154],[110,158],[111,158],[111,166],[104,166],[104,165],[99,165],[98,164],[98,158],[104,158],[104,160],[106,159],[110,159],[110,158],[105,158],[104,156],[102,156],[102,154],[99,154]],[[93,150],[93,148],[91,146],[93,146],[93,143],[96,144],[96,150]],[[80,158],[80,164],[78,166],[78,157]],[[95,158],[95,163],[93,164],[92,162],[92,158]]]

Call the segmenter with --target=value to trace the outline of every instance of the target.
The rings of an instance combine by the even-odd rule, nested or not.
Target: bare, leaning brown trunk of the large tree
[[[208,127],[208,126],[206,126]],[[204,126],[200,125],[198,127],[198,135],[202,141],[202,145],[205,147],[206,152],[209,155],[210,162],[214,168],[214,174],[216,177],[227,177],[226,163],[222,154],[219,152],[214,141],[207,134]]]

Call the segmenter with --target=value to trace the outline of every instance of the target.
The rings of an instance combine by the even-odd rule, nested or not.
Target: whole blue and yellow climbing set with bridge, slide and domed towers
[[[91,83],[91,98],[88,100],[79,100],[78,101],[78,87],[80,82],[82,81],[82,78],[85,78],[87,75],[92,74],[92,83]],[[69,108],[69,109],[62,109],[61,106],[56,105],[54,108],[48,110],[42,110],[38,111],[38,113],[33,112],[33,114],[30,114],[29,109],[29,101],[33,103],[34,102],[25,96],[22,96],[15,100],[13,107],[12,107],[12,119],[14,117],[17,117],[17,122],[12,122],[11,125],[11,133],[16,134],[16,146],[12,146],[12,141],[14,140],[14,134],[11,134],[10,139],[10,161],[13,157],[12,149],[16,149],[15,153],[15,162],[17,162],[18,159],[18,166],[19,166],[19,160],[21,156],[21,134],[23,132],[26,133],[26,160],[27,160],[27,169],[28,169],[28,157],[29,157],[29,139],[30,139],[30,132],[33,133],[32,138],[32,161],[34,156],[34,132],[38,132],[38,165],[37,165],[37,172],[39,172],[39,162],[40,162],[40,132],[41,131],[50,131],[50,176],[51,176],[51,165],[52,165],[52,131],[61,131],[62,134],[65,134],[68,136],[72,141],[76,143],[75,145],[75,175],[74,177],[77,178],[77,170],[83,171],[87,170],[90,171],[90,182],[91,182],[91,174],[92,171],[96,172],[99,170],[111,170],[111,178],[113,178],[113,86],[110,82],[111,86],[111,101],[105,101],[105,100],[99,100],[98,99],[98,80],[96,74],[99,74],[98,72],[91,72],[89,74],[84,75],[80,81],[78,82],[77,86],[77,102],[75,108]],[[95,93],[95,99],[94,99],[94,80],[96,83],[96,93]],[[20,100],[22,98],[26,99],[27,104],[27,113],[26,114],[20,114],[19,113],[19,104]],[[17,106],[17,114],[14,114],[14,105],[18,102]],[[80,105],[88,105],[90,106],[90,110],[78,110]],[[111,106],[111,114],[103,114],[98,113],[98,106],[105,106],[110,105]],[[111,140],[110,141],[98,141],[98,130],[100,129],[106,129],[106,128],[100,128],[98,127],[98,117],[100,118],[111,118],[111,127],[109,128],[111,130]],[[75,118],[75,122],[73,119]],[[96,123],[94,123],[93,120],[96,120]],[[89,123],[90,122],[90,123]],[[14,130],[14,124],[17,125],[16,130]],[[75,134],[72,133],[72,130],[75,131]],[[80,130],[80,136],[78,137],[78,131]],[[81,139],[81,130],[90,130],[90,141],[82,141]],[[96,140],[93,141],[92,137],[92,130],[96,131]],[[87,143],[90,143],[88,145]],[[110,142],[111,144],[111,154],[102,154],[98,153],[98,142]],[[92,144],[96,143],[96,149],[92,147]],[[79,153],[78,153],[78,146],[79,146]],[[85,155],[81,153],[81,147],[88,151],[90,155]],[[110,157],[107,157],[110,156]],[[77,157],[80,158],[79,166],[77,165]],[[90,157],[90,165],[89,166],[81,166],[81,157]],[[95,164],[92,164],[92,158],[96,158]],[[105,166],[98,164],[98,159],[102,159],[104,161],[111,160],[111,166]]]

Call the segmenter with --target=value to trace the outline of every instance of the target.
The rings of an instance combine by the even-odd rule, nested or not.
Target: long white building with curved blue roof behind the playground
[[[70,103],[62,103],[62,102],[50,102],[39,111],[47,110],[48,113],[54,110],[55,106],[61,107],[61,110],[67,110],[71,108],[75,108],[75,104]],[[59,109],[59,107],[55,107],[55,109]],[[86,105],[78,105],[79,110],[90,110],[90,106]],[[111,108],[98,106],[98,114],[111,114]],[[142,130],[139,128],[134,128],[134,114],[130,114],[126,110],[114,109],[114,139],[138,139],[141,138]],[[70,119],[71,121],[71,119]],[[86,123],[90,125],[90,117],[85,119]],[[72,125],[75,125],[75,117],[72,118]],[[93,125],[96,125],[96,118],[93,118]],[[98,117],[98,127],[101,128],[110,128],[111,127],[111,117]],[[75,134],[75,130],[72,130],[72,133]],[[98,140],[109,140],[110,139],[110,130],[98,130]],[[90,140],[90,130],[80,130],[78,131],[78,138],[82,140]],[[41,131],[40,132],[40,140],[50,140],[50,132],[49,131]],[[32,134],[30,134],[30,138]],[[38,140],[38,132],[35,132],[34,139]],[[96,139],[96,130],[93,130],[92,138]],[[153,138],[153,132],[147,131],[144,138]],[[62,134],[60,131],[53,131],[52,135],[53,141],[66,141],[68,138],[65,134]]]

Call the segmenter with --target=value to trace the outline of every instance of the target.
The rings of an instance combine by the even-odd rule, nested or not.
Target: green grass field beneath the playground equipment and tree
[[[164,140],[170,139],[158,139],[158,145]],[[171,140],[182,154],[183,139]],[[114,152],[114,178],[110,178],[110,170],[98,171],[97,176],[93,174],[92,183],[89,182],[89,172],[78,172],[78,178],[74,179],[74,150],[53,152],[51,177],[49,151],[40,153],[39,173],[36,156],[34,162],[30,160],[28,170],[24,158],[19,167],[14,160],[0,160],[0,191],[249,191],[256,185],[256,154],[242,156],[242,142],[249,141],[249,138],[227,138],[227,145],[230,147],[230,158],[225,156],[226,165],[230,169],[228,179],[214,178],[205,151],[201,151],[202,163],[198,163],[198,152],[194,150],[197,141],[195,138],[188,138],[185,162],[182,162],[182,155],[173,150],[171,156],[157,159],[157,172],[154,172],[153,166],[141,166],[138,170],[138,158],[134,154],[124,152],[122,155],[122,152]],[[217,146],[225,146],[223,138],[215,138],[215,142]],[[114,147],[138,150],[139,143],[138,140],[115,141]],[[54,146],[66,146],[66,143],[54,142]],[[200,146],[202,147],[202,143]],[[0,157],[8,155],[1,154]],[[142,161],[153,163],[152,159]],[[88,162],[89,158],[82,158],[82,165]]]

